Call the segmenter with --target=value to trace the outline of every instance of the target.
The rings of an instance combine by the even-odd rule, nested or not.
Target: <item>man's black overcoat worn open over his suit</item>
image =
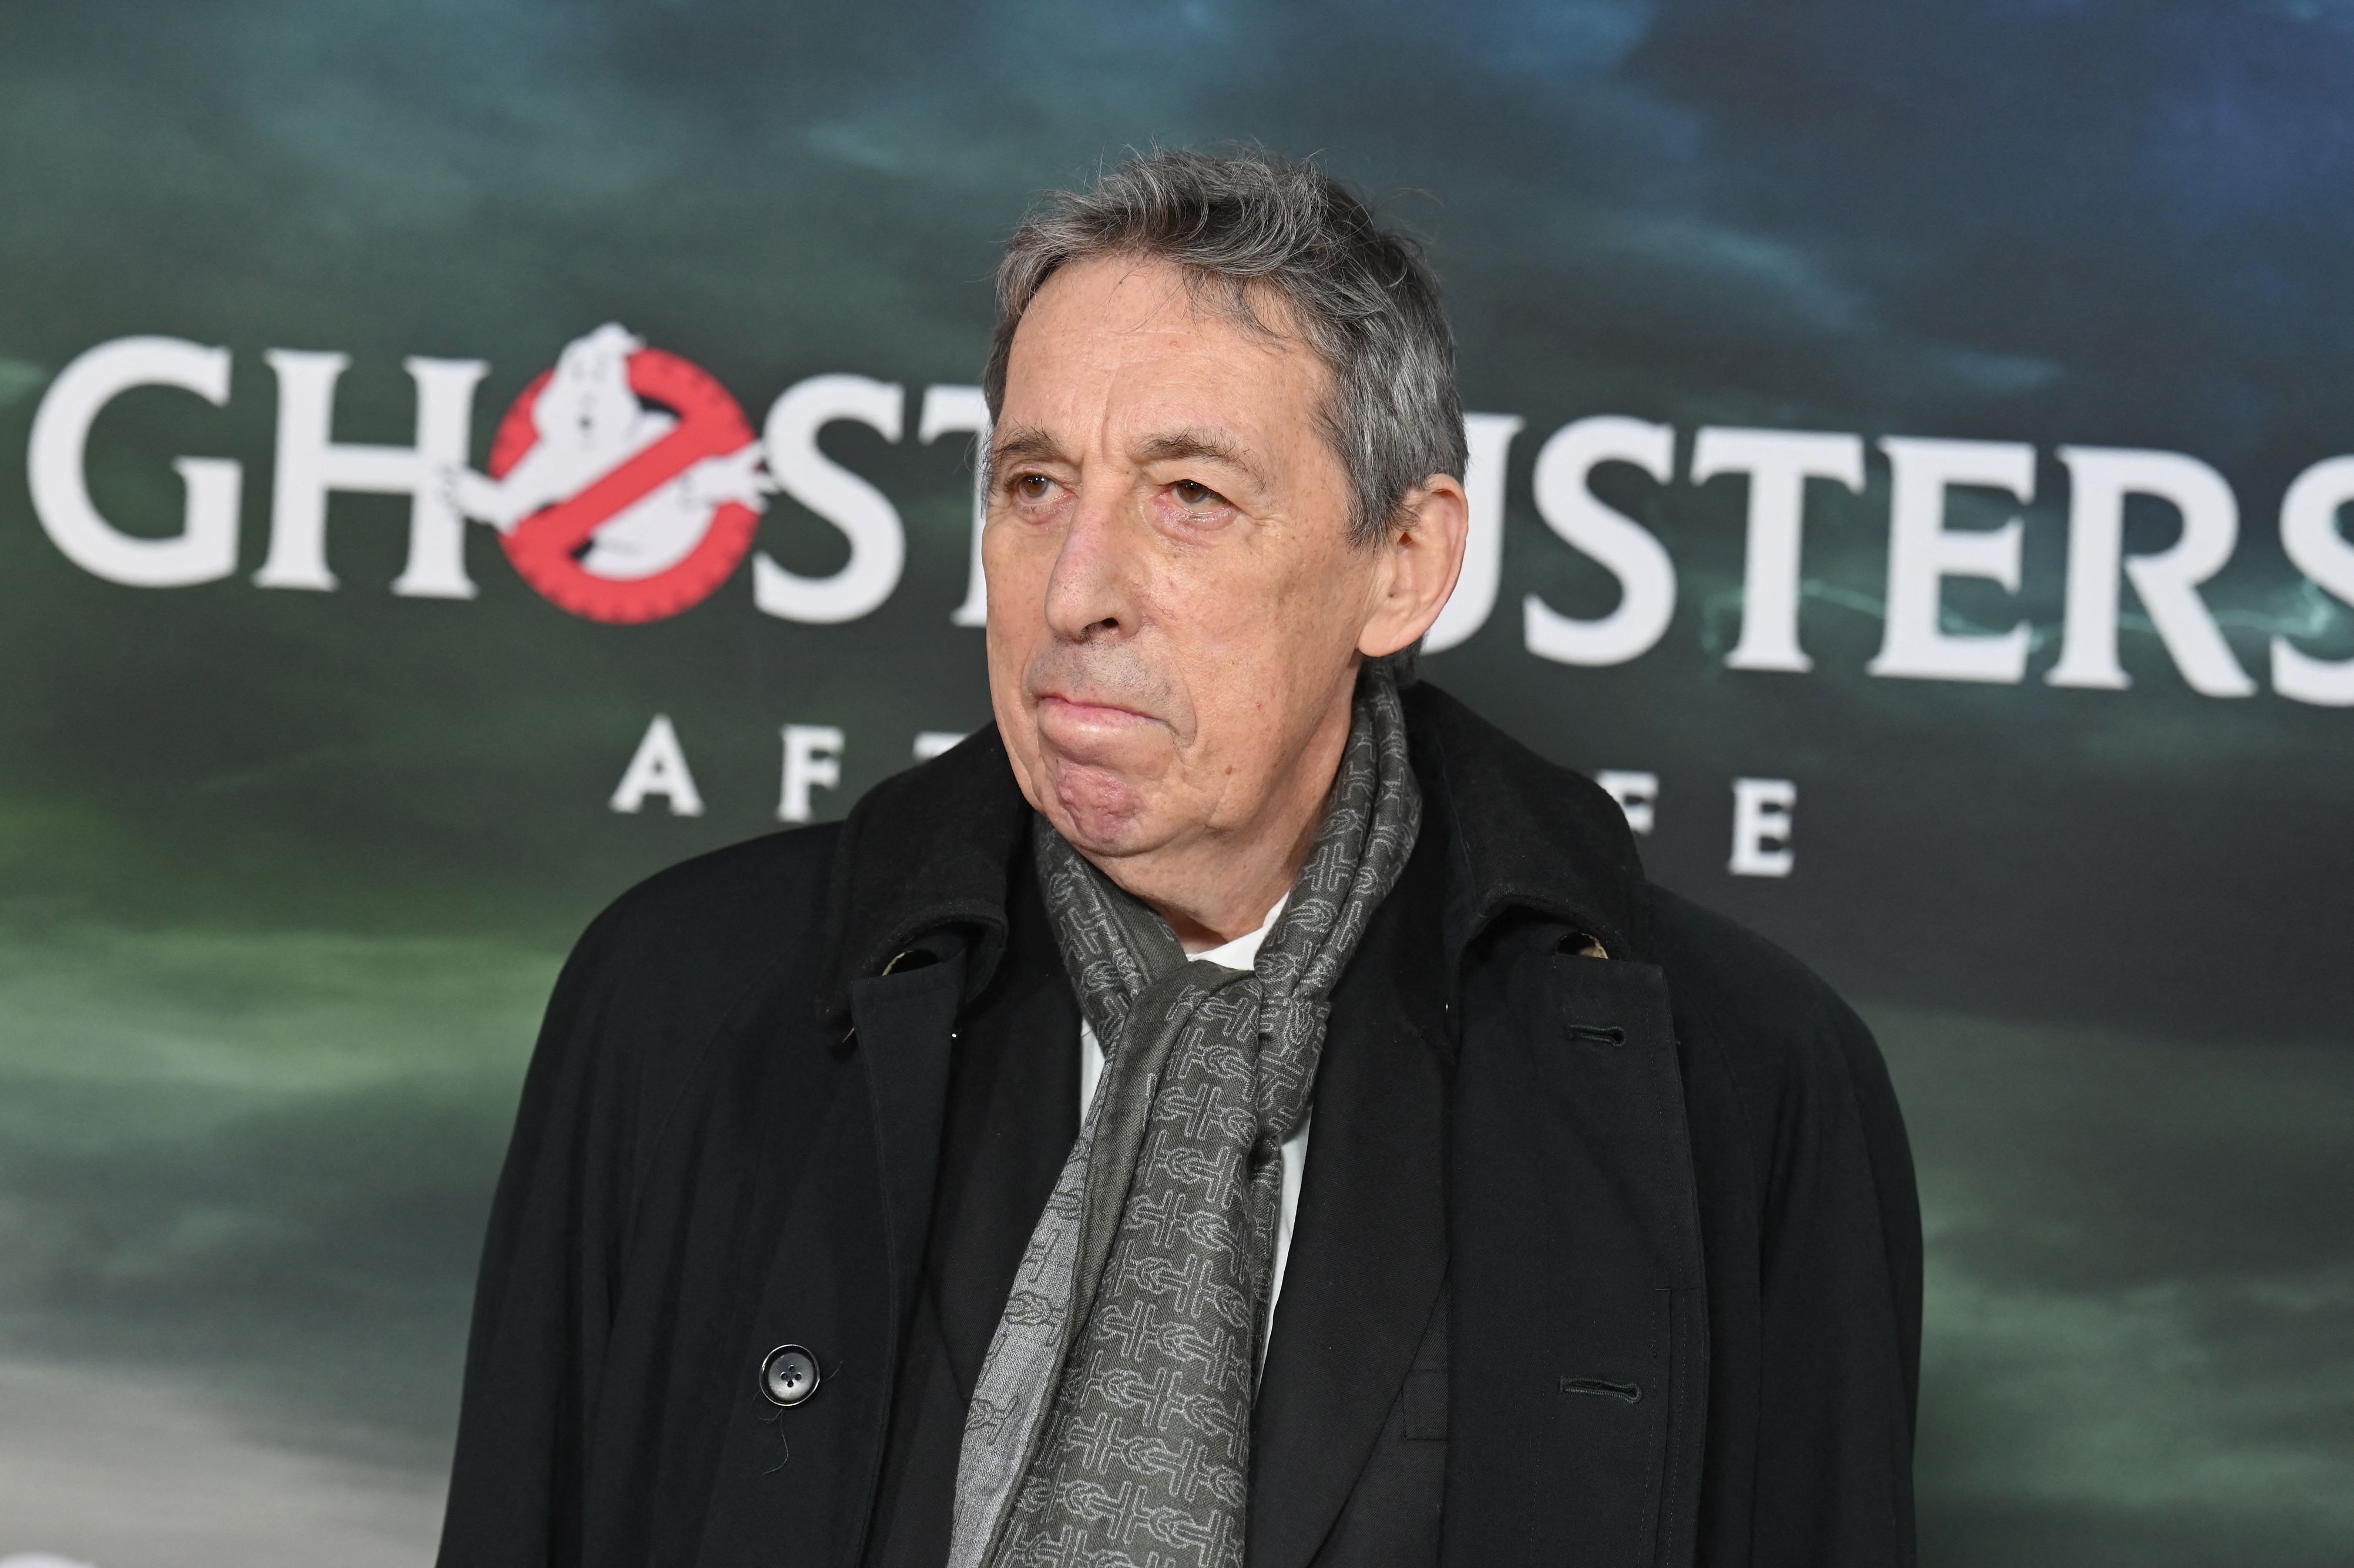
[[[1452,1566],[1909,1566],[1921,1234],[1871,1036],[1650,888],[1591,782],[1429,685],[1408,732],[1424,873],[1335,996],[1257,1413],[1255,1500],[1281,1519],[1255,1511],[1252,1568],[1368,1516],[1351,1476],[1434,1377]],[[982,732],[840,829],[676,866],[581,937],[492,1210],[445,1568],[862,1559],[958,1029],[1019,968],[1026,822]],[[1335,1088],[1363,1029],[1443,1059],[1424,1081],[1391,1057],[1445,1102],[1443,1154],[1401,1182],[1358,1140],[1358,1184],[1391,1182],[1410,1224],[1328,1248],[1349,1278],[1318,1283],[1318,1184],[1349,1168],[1328,1095],[1377,1116],[1391,1081]],[[784,1342],[824,1368],[791,1410],[756,1384]]]

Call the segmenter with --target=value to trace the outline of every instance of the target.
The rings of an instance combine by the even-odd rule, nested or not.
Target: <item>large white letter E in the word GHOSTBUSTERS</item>
[[[1940,626],[1947,577],[1984,577],[2020,591],[2020,518],[2001,527],[1949,530],[1944,492],[1954,485],[2008,490],[2036,499],[2036,450],[2008,440],[1881,440],[1890,466],[1888,633],[1867,664],[1874,676],[1921,680],[2020,680],[2027,673],[2027,624],[1994,636],[1956,636]]]

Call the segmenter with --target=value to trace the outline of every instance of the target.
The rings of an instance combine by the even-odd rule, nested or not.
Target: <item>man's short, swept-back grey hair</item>
[[[1332,372],[1318,421],[1349,471],[1358,544],[1379,542],[1429,476],[1464,476],[1455,332],[1438,278],[1419,245],[1384,231],[1314,160],[1156,148],[1130,153],[1092,191],[1045,195],[998,261],[998,330],[982,377],[991,419],[1005,407],[1022,313],[1057,268],[1095,257],[1168,261],[1222,287],[1219,304],[1252,332],[1276,334],[1252,311],[1252,287],[1283,299],[1285,325]]]

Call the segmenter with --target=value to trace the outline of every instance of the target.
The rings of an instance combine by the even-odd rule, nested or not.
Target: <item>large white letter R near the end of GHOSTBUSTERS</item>
[[[2067,633],[2050,685],[2123,690],[2116,662],[2116,577],[2133,579],[2149,622],[2192,690],[2248,697],[2255,680],[2232,657],[2199,584],[2222,570],[2239,542],[2232,485],[2196,457],[2114,447],[2060,447],[2069,471]],[[2156,556],[2126,556],[2126,497],[2147,494],[2182,513],[2182,537]]]

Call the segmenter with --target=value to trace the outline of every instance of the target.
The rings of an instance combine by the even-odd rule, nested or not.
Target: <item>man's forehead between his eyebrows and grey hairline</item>
[[[1111,440],[1212,426],[1252,445],[1316,440],[1330,384],[1276,297],[1269,330],[1233,318],[1219,290],[1165,261],[1097,257],[1038,290],[1005,363],[1005,424]]]

